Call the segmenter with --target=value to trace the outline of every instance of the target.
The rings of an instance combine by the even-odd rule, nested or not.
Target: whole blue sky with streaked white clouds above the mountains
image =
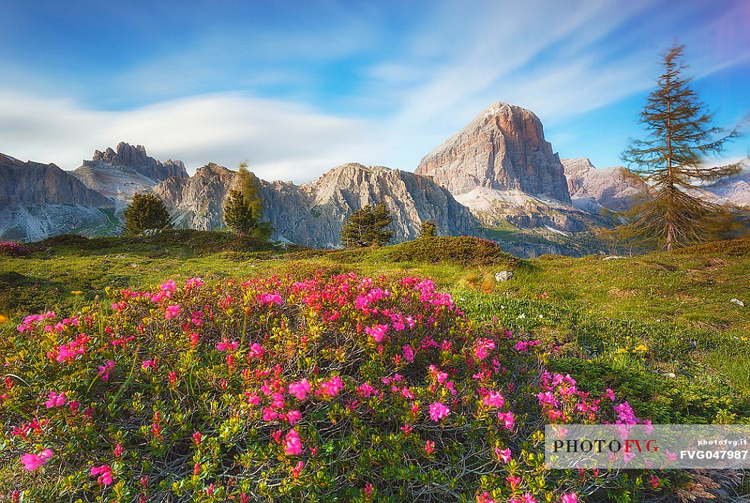
[[[748,0],[4,0],[0,14],[0,152],[65,169],[125,140],[190,171],[248,159],[266,179],[413,170],[496,101],[533,110],[561,157],[616,165],[676,38],[716,122],[750,112]],[[727,156],[748,152],[744,138]]]

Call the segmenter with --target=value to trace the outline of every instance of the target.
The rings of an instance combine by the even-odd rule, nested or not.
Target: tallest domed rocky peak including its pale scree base
[[[571,205],[559,156],[541,121],[505,103],[487,107],[419,163],[486,227],[586,230],[590,215]]]

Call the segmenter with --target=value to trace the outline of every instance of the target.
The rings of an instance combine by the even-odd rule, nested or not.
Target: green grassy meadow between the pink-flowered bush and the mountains
[[[583,386],[624,390],[654,420],[739,421],[750,418],[748,243],[608,261],[543,256],[464,266],[395,263],[390,247],[275,248],[217,232],[58,236],[31,245],[28,258],[0,258],[0,314],[15,322],[28,312],[79,306],[107,287],[169,278],[302,277],[320,269],[428,276],[451,291],[469,317],[499,318],[511,330],[555,343],[553,369],[571,373]],[[494,273],[505,269],[514,277],[496,284]]]

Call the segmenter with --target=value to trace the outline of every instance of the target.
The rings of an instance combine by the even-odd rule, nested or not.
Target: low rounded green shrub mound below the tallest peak
[[[392,246],[395,262],[448,262],[463,265],[512,264],[514,258],[489,239],[474,236],[433,236]]]

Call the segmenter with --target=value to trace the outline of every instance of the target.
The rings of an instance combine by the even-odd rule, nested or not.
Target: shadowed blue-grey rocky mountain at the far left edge
[[[30,241],[110,227],[115,203],[55,164],[0,154],[0,236]]]

